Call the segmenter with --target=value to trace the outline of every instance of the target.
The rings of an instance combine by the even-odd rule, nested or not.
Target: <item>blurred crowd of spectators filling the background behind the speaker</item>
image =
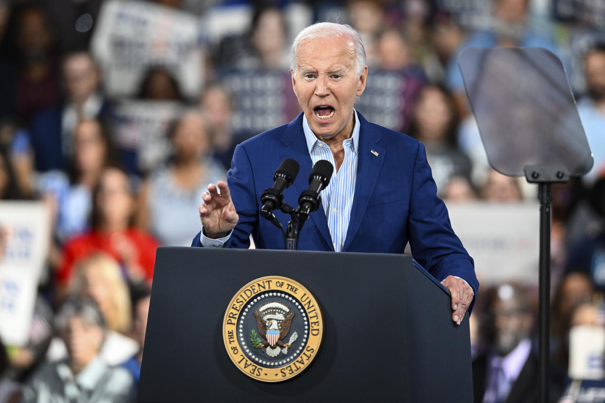
[[[551,389],[569,394],[572,329],[605,326],[605,5],[0,0],[0,201],[42,201],[51,218],[28,343],[0,348],[0,402],[134,401],[155,249],[191,243],[236,144],[300,113],[289,46],[326,20],[364,39],[355,108],[425,144],[446,202],[537,198],[489,167],[460,51],[543,47],[563,61],[594,154],[588,175],[553,188]],[[477,402],[537,401],[536,313],[535,286],[480,289]]]

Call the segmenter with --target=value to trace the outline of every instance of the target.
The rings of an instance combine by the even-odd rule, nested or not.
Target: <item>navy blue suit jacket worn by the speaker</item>
[[[454,234],[445,205],[437,198],[424,146],[358,116],[355,199],[342,251],[403,253],[409,241],[414,258],[438,281],[450,274],[459,276],[477,291],[473,259]],[[309,188],[312,169],[302,114],[235,148],[227,184],[240,220],[225,247],[249,247],[251,233],[257,248],[284,249],[281,231],[259,215],[261,194],[272,187],[273,173],[284,158],[300,164],[294,184],[283,193],[284,201],[296,207],[300,193]],[[278,210],[275,215],[285,228],[290,217]],[[192,246],[201,246],[199,233]],[[310,214],[298,249],[334,250],[322,207]]]

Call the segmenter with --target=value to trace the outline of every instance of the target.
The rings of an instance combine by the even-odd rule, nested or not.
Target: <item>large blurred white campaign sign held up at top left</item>
[[[181,91],[197,97],[203,83],[198,19],[147,1],[103,2],[91,49],[110,97],[136,94],[143,74],[168,69]]]

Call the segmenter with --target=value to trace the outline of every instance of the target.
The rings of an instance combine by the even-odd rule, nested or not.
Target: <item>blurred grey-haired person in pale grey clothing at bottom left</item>
[[[132,376],[123,368],[108,366],[99,356],[106,326],[93,300],[74,297],[65,301],[55,326],[67,346],[67,358],[34,374],[24,388],[24,402],[132,401]]]

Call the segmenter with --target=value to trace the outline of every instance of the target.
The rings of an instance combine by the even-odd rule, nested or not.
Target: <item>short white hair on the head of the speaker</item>
[[[304,30],[296,35],[292,48],[290,48],[290,68],[296,71],[296,52],[298,51],[298,46],[303,42],[312,39],[332,39],[338,37],[346,37],[350,40],[350,45],[355,49],[355,71],[359,76],[366,65],[364,42],[362,42],[358,31],[354,30],[350,25],[336,24],[335,22],[316,22],[304,28]]]

